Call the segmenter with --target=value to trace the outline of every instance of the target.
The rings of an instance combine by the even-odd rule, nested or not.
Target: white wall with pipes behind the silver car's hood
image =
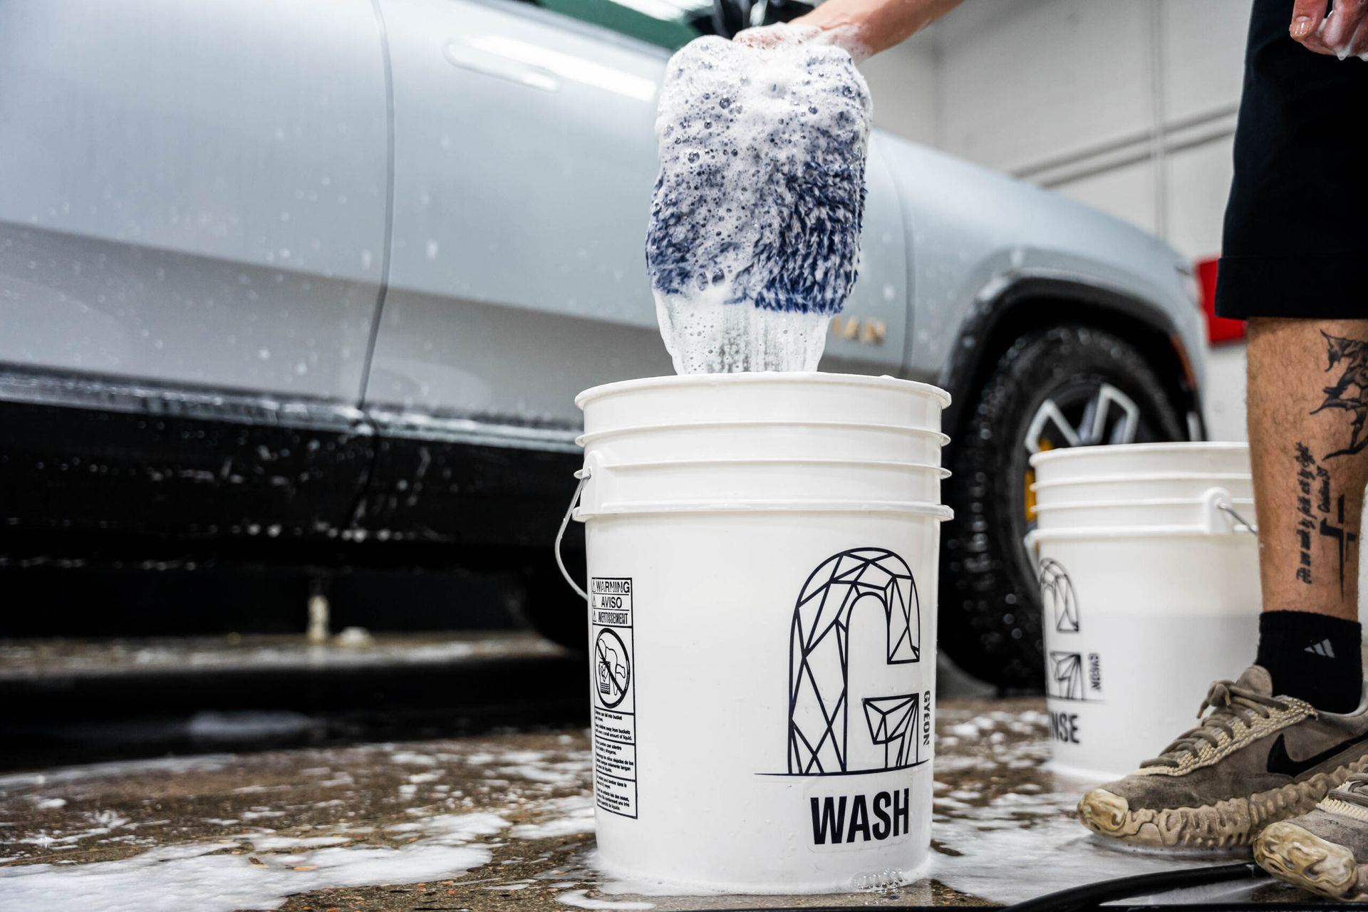
[[[964,0],[866,64],[878,126],[1220,252],[1249,0]],[[1244,439],[1244,346],[1207,420]]]

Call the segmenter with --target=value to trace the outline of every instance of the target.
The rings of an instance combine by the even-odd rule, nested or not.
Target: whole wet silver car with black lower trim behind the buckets
[[[0,552],[518,573],[576,391],[662,375],[643,237],[672,49],[739,0],[0,4]],[[896,100],[877,98],[880,104]],[[877,134],[824,369],[948,388],[941,644],[1040,681],[1029,453],[1200,438],[1152,237]]]

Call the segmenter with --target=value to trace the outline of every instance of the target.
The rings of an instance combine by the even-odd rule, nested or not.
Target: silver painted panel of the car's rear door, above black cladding
[[[0,4],[0,362],[354,405],[386,118],[369,0]]]

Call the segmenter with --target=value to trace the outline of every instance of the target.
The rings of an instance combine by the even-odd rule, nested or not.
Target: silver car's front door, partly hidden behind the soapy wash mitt
[[[380,8],[395,204],[368,412],[401,432],[431,428],[432,414],[573,428],[579,390],[673,373],[643,254],[657,92],[670,49],[711,4]],[[841,321],[824,366],[892,373],[906,335],[903,230],[877,153],[869,179],[856,323]]]

